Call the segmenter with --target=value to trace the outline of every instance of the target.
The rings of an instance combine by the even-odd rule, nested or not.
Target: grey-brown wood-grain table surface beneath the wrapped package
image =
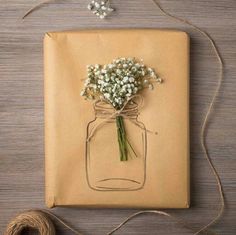
[[[203,117],[217,85],[218,64],[209,42],[189,26],[161,14],[151,0],[113,0],[117,11],[101,21],[88,0],[58,0],[25,20],[38,0],[0,0],[0,233],[22,210],[44,205],[43,57],[44,33],[81,28],[178,28],[191,36],[191,208],[168,210],[194,228],[219,209],[215,179],[200,147]],[[209,152],[222,179],[226,209],[213,227],[236,234],[236,1],[163,0],[169,12],[206,30],[224,58],[225,79],[207,133]],[[136,210],[56,208],[84,234],[104,235]],[[71,234],[58,225],[58,234]],[[191,234],[170,219],[140,216],[116,234]]]

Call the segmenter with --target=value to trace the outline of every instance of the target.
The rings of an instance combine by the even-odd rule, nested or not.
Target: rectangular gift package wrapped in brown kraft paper
[[[87,66],[116,58],[139,58],[163,79],[123,112],[135,153],[126,160],[112,107],[80,94]],[[47,206],[188,208],[188,35],[156,29],[50,32],[44,59]]]

